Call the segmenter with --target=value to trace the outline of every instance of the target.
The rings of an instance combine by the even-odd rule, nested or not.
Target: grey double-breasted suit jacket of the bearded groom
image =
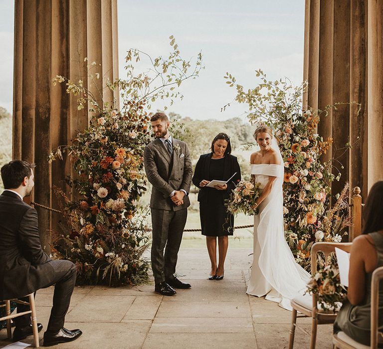
[[[177,148],[180,148],[177,150]],[[192,162],[185,142],[173,138],[172,158],[160,139],[156,139],[144,150],[145,172],[153,184],[150,207],[178,211],[190,206],[189,196],[184,204],[176,206],[170,198],[173,190],[184,189],[189,193],[192,182]]]

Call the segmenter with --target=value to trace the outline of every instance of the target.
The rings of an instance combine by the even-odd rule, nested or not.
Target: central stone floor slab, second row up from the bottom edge
[[[250,318],[156,318],[152,333],[253,333]]]

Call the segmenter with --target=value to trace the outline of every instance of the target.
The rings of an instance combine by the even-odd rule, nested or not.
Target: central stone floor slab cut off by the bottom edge
[[[145,340],[143,349],[257,349],[254,334],[202,333],[171,334],[153,333]]]

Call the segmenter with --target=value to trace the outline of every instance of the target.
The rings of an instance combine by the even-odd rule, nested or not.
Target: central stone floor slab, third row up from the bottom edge
[[[248,302],[162,302],[157,318],[249,318]]]

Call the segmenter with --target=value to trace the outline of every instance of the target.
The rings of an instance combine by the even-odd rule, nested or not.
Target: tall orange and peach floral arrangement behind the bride
[[[332,162],[322,164],[320,157],[331,147],[331,138],[323,140],[317,133],[320,117],[328,109],[302,111],[302,95],[306,83],[292,86],[288,81],[269,81],[261,71],[256,71],[261,83],[254,89],[244,90],[236,84],[231,74],[225,79],[235,86],[235,100],[249,106],[247,117],[254,126],[268,125],[275,130],[284,160],[284,221],[286,240],[296,261],[310,270],[310,249],[315,241],[339,242],[350,224],[348,205],[339,203],[333,217],[326,218],[330,186],[340,174],[332,174]],[[224,108],[226,108],[226,105]],[[329,106],[330,108],[331,106]],[[335,108],[335,106],[332,106]],[[340,196],[346,200],[346,191]],[[332,225],[330,221],[337,220]]]

